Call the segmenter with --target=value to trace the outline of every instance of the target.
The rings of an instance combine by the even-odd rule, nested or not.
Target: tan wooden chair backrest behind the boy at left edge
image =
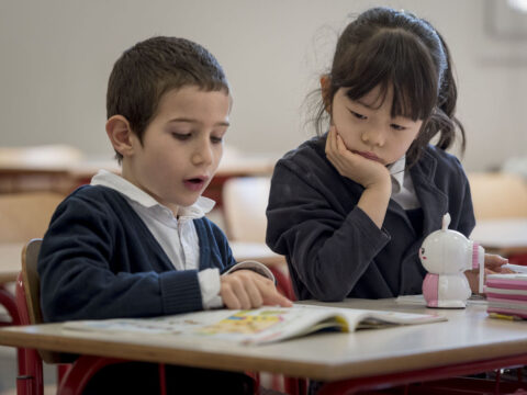
[[[0,241],[25,242],[43,237],[64,198],[55,192],[0,194]]]

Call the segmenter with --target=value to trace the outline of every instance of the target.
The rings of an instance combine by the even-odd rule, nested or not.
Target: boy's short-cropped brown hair
[[[139,142],[161,97],[172,89],[197,86],[229,93],[216,58],[186,38],[157,36],[137,43],[115,61],[106,91],[106,119],[124,116]],[[119,161],[122,155],[116,153]]]

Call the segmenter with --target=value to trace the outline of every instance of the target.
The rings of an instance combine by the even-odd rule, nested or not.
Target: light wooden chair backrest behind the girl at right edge
[[[468,173],[476,219],[527,217],[527,181],[505,172]]]

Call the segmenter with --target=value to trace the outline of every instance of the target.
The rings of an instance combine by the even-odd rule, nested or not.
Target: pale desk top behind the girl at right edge
[[[480,219],[470,238],[485,249],[504,256],[526,253],[527,217]]]

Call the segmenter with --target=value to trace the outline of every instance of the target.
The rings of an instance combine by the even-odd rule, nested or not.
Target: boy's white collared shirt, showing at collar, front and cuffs
[[[91,184],[108,187],[123,194],[159,242],[176,270],[199,270],[200,240],[192,219],[201,218],[209,213],[215,205],[213,200],[200,196],[191,206],[179,207],[179,218],[177,218],[168,207],[148,193],[112,172],[100,170],[91,179]],[[268,268],[253,261],[237,263],[224,274],[239,269],[251,269],[274,280]],[[202,270],[198,273],[198,280],[203,308],[222,307],[220,270],[216,268]]]

